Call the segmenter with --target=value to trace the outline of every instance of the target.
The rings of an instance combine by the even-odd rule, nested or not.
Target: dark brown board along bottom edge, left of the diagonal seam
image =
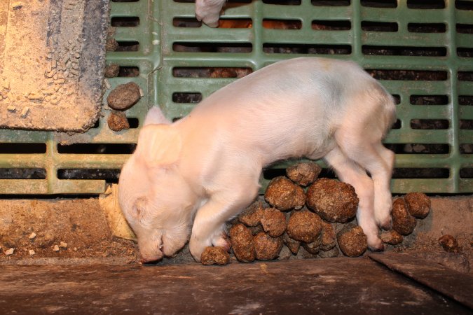
[[[0,314],[471,314],[369,258],[1,265]]]

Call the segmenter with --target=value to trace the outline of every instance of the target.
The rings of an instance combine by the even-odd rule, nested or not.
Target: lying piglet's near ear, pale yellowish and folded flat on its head
[[[147,125],[139,132],[135,153],[149,167],[166,167],[177,162],[181,147],[181,135],[173,125]]]

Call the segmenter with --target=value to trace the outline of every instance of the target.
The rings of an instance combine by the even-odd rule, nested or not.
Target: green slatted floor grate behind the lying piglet
[[[103,193],[149,106],[179,119],[235,78],[301,55],[352,59],[395,95],[385,139],[397,153],[393,193],[473,192],[473,1],[228,1],[218,29],[193,10],[186,0],[112,0],[119,47],[107,62],[121,74],[108,81],[144,91],[126,111],[135,128],[109,130],[104,106],[85,134],[0,130],[0,193]]]

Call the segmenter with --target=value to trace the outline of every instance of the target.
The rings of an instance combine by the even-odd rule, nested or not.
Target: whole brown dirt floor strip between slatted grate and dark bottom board
[[[460,272],[469,272],[473,264],[473,197],[432,197],[431,200],[429,216],[417,221],[416,229],[404,237],[402,244],[388,245],[386,251],[420,255]],[[455,251],[449,253],[440,246],[438,239],[443,235],[457,239]],[[0,264],[139,261],[134,241],[112,235],[98,198],[0,200],[0,246]],[[7,255],[11,248],[13,253]],[[301,258],[315,256],[298,254],[285,259]],[[160,264],[192,262],[186,245],[174,258],[165,258]],[[237,260],[232,257],[231,262]]]

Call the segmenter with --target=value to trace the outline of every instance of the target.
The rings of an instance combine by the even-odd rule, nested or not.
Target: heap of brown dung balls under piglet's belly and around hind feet
[[[363,255],[366,235],[355,221],[359,202],[355,189],[336,179],[317,179],[319,174],[317,164],[306,162],[288,168],[287,177],[270,181],[266,202],[256,200],[228,225],[234,259]],[[423,193],[398,197],[393,202],[392,230],[382,231],[381,239],[401,244],[403,235],[416,227],[416,218],[425,218],[429,211],[430,200]]]

